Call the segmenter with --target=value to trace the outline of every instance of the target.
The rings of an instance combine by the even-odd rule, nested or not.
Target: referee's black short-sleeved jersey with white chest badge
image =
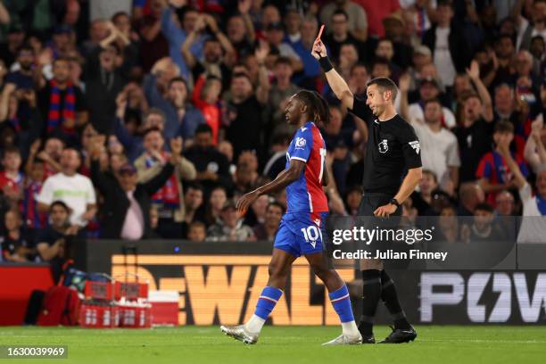
[[[406,171],[422,166],[421,146],[415,130],[398,114],[390,120],[377,120],[366,100],[356,96],[349,112],[368,123],[364,192],[394,196]]]

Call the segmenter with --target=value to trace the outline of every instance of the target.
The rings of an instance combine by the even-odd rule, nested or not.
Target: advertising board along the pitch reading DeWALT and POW
[[[179,325],[244,322],[268,280],[271,244],[265,242],[88,241],[85,259],[80,260],[82,268],[124,275],[124,259],[133,264],[136,258],[121,253],[128,244],[137,248],[137,274],[150,282],[151,291],[178,291]],[[525,258],[525,270],[436,268],[391,270],[389,274],[409,320],[416,324],[544,324],[546,244],[517,244],[516,248],[517,257]],[[340,269],[339,273],[347,282],[360,276],[354,269]],[[359,297],[358,282],[350,286],[353,298]],[[353,303],[359,312],[359,300]],[[269,319],[274,325],[338,324],[324,285],[304,258],[294,261],[285,295]],[[377,322],[389,322],[383,307]]]

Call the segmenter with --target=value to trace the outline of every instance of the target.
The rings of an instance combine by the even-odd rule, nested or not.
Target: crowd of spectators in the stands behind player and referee
[[[354,95],[399,85],[424,166],[406,216],[546,216],[544,0],[0,0],[0,23],[4,261],[273,240],[285,191],[236,201],[285,168],[302,88],[331,107],[330,211],[356,215],[368,128],[310,54],[319,24]]]

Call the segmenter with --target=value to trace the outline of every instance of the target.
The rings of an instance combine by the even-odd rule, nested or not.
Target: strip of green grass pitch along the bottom
[[[244,345],[219,327],[82,329],[0,327],[0,345],[68,345],[68,360],[15,363],[544,363],[546,327],[417,327],[414,343],[321,347],[339,327],[265,327]],[[376,338],[390,332],[376,327]],[[6,360],[0,360],[5,362]]]

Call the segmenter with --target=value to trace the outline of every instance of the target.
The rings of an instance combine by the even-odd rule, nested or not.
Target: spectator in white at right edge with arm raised
[[[517,243],[546,243],[546,164],[537,170],[536,194],[533,195],[531,185],[509,152],[509,139],[504,139],[499,143],[499,151],[514,174],[514,185],[524,206]]]

